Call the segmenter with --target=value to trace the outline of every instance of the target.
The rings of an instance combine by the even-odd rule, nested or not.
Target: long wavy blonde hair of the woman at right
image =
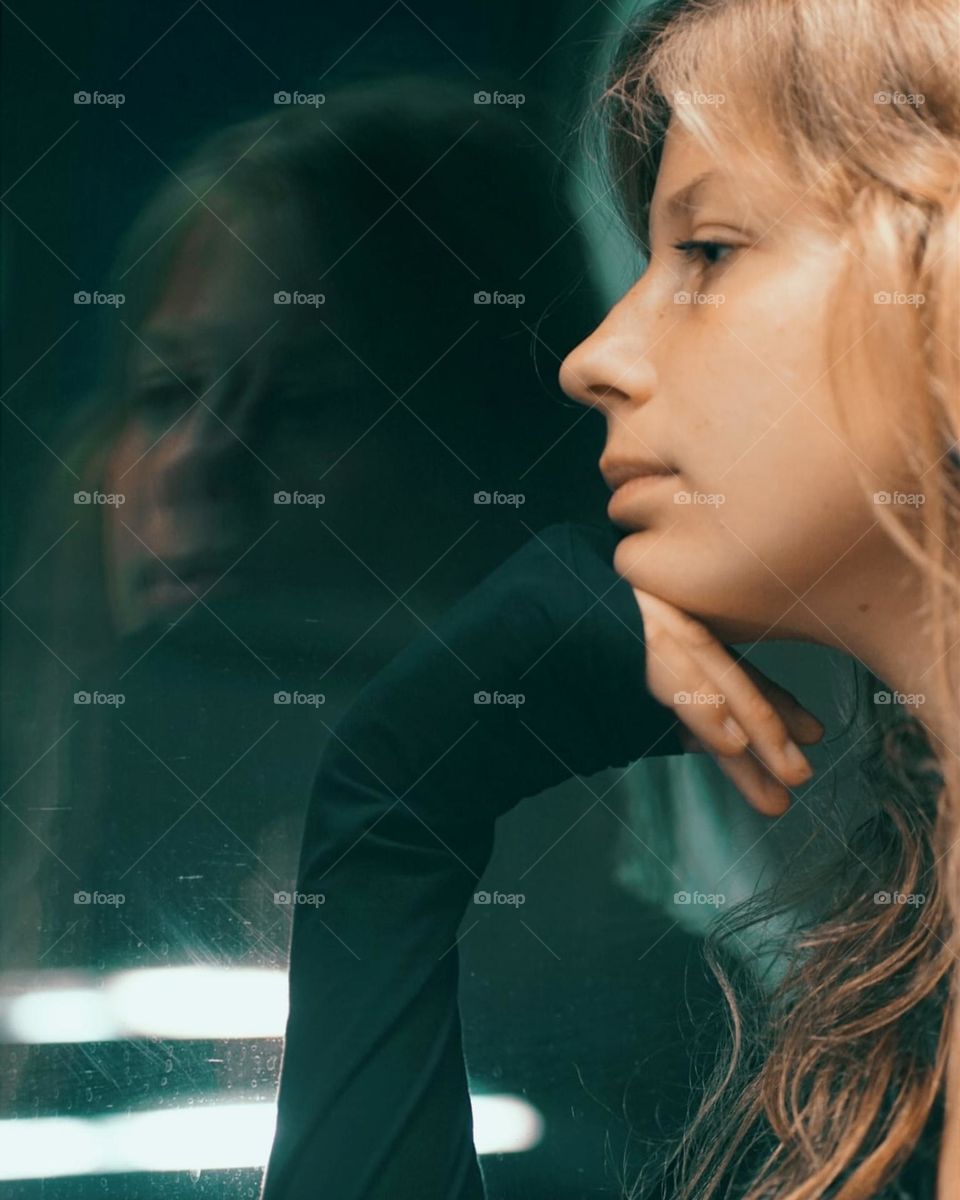
[[[876,515],[922,575],[918,619],[930,623],[929,670],[950,715],[960,713],[959,41],[955,0],[667,0],[624,38],[599,106],[619,202],[648,253],[671,119],[719,157],[750,151],[762,134],[778,172],[841,233],[848,254],[828,319],[838,412],[868,493],[894,481],[868,478],[854,446],[862,428],[886,420],[907,463],[895,485],[924,496],[922,516],[882,504]],[[691,103],[696,95],[722,103]],[[878,293],[913,300],[883,304]],[[844,386],[857,372],[869,389]],[[869,396],[865,420],[856,396]],[[679,1200],[872,1200],[942,1099],[958,978],[960,758],[912,716],[883,726],[872,743],[882,770],[871,764],[880,803],[773,995],[742,1003],[722,935],[710,950],[731,1049],[661,1164],[661,1187],[670,1177]],[[878,906],[877,875],[881,888],[925,904]]]

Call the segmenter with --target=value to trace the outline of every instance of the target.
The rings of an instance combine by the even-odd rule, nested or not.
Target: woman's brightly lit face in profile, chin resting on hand
[[[612,488],[674,473],[611,497],[620,575],[731,641],[839,644],[904,565],[854,467],[892,490],[902,463],[892,427],[863,426],[869,396],[832,392],[828,304],[850,252],[787,180],[746,145],[719,161],[673,120],[649,265],[560,384],[606,416]],[[836,409],[853,400],[856,450]]]

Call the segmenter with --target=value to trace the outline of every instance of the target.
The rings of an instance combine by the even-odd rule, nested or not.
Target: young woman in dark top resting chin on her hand
[[[562,368],[616,533],[538,536],[341,726],[266,1200],[482,1194],[455,940],[492,821],[682,745],[784,812],[820,731],[724,646],[770,638],[886,685],[876,802],[778,986],[728,988],[730,1052],[635,1194],[960,1193],[959,46],[952,0],[671,0],[625,40],[611,186],[647,266]],[[527,715],[472,721],[463,664]]]

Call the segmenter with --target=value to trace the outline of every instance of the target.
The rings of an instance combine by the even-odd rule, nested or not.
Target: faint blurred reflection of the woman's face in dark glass
[[[107,529],[110,590],[133,628],[206,592],[253,533],[248,439],[264,364],[256,349],[233,370],[230,358],[262,336],[270,313],[242,247],[211,224],[186,239],[133,343],[132,415],[109,461],[109,486],[126,497]]]

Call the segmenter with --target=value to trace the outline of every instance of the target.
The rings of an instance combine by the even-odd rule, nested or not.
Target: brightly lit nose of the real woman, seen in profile
[[[571,400],[611,412],[653,395],[655,371],[629,299],[628,293],[560,364],[560,386]]]

